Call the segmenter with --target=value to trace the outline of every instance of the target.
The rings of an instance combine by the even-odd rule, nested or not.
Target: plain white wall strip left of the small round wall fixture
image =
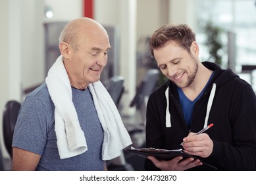
[[[22,90],[43,82],[43,6],[43,0],[20,3]]]

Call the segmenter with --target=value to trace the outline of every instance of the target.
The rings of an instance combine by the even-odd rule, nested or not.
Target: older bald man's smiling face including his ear
[[[79,27],[76,50],[67,43],[63,45],[68,51],[64,52],[63,60],[71,85],[86,89],[90,83],[99,81],[111,48],[105,29],[90,20]]]

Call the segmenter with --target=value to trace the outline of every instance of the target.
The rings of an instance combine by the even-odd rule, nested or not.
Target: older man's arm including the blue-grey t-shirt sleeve
[[[37,99],[26,99],[13,134],[12,170],[35,170],[47,141],[47,116]]]

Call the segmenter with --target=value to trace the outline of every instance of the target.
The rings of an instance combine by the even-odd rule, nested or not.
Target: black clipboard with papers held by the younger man
[[[176,150],[155,149],[155,148],[134,149],[132,147],[131,149],[126,149],[126,150],[128,152],[137,154],[138,156],[142,156],[143,158],[147,158],[147,156],[155,156],[155,158],[157,158],[158,160],[172,160],[172,158],[175,158],[177,156],[182,156],[183,159],[195,158],[195,159],[199,159],[203,163],[204,167],[207,167],[210,170],[217,170],[217,168],[215,168],[214,166],[211,166],[210,164],[203,162],[200,158],[197,158],[196,156],[193,156],[191,154],[184,152],[182,149],[176,149]]]

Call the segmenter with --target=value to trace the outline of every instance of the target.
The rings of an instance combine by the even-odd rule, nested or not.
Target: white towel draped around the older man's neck
[[[45,82],[55,105],[55,132],[60,158],[70,158],[86,152],[86,138],[72,103],[72,89],[62,56],[50,68]],[[103,160],[111,160],[119,156],[122,149],[131,145],[132,141],[115,103],[101,81],[90,83],[88,87],[104,131],[101,156]]]

